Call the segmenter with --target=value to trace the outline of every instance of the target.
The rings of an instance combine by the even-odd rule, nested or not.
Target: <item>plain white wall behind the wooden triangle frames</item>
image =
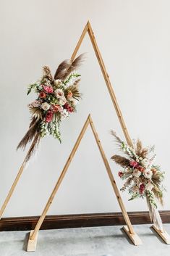
[[[166,171],[164,210],[169,210],[169,8],[168,0],[1,0],[0,205],[26,153],[15,149],[29,125],[27,104],[35,98],[26,95],[27,84],[41,77],[43,65],[55,72],[71,57],[89,19],[130,135],[156,144],[157,163]],[[61,145],[52,138],[42,140],[4,217],[41,214],[88,113],[108,159],[116,152],[109,130],[123,134],[88,36],[82,52],[88,54],[77,114],[62,123]],[[120,188],[119,168],[109,162]],[[122,198],[129,211],[147,210],[143,200],[128,202],[126,193]],[[119,205],[88,130],[48,214],[116,211]]]

